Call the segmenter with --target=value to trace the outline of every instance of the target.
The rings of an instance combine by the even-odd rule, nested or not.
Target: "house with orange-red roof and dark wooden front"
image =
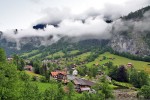
[[[54,79],[58,81],[65,81],[67,80],[67,72],[57,70],[57,71],[51,72],[51,77],[53,77]]]

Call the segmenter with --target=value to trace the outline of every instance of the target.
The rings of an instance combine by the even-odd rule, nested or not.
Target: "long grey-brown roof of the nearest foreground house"
[[[87,86],[93,86],[95,84],[94,82],[85,79],[80,79],[80,78],[75,78],[73,82],[74,84],[87,85]]]

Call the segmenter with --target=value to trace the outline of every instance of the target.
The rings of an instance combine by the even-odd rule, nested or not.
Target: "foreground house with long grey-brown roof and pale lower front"
[[[91,86],[95,84],[94,82],[85,79],[80,79],[80,78],[75,78],[73,80],[73,83],[75,85],[75,90],[77,92],[90,91]]]

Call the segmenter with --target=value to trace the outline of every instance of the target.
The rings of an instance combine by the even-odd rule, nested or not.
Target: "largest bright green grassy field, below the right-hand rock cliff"
[[[106,58],[115,58],[115,59],[114,60],[106,59],[106,60],[100,61],[103,58],[103,56],[105,56]],[[133,66],[137,70],[144,70],[144,71],[150,73],[150,65],[148,65],[150,62],[131,60],[131,59],[128,59],[125,57],[110,54],[109,52],[99,55],[99,57],[96,58],[95,61],[88,63],[87,66],[92,66],[93,64],[97,64],[97,63],[102,65],[109,61],[113,62],[114,65],[118,65],[118,66],[119,65],[127,65],[128,63],[132,63]]]

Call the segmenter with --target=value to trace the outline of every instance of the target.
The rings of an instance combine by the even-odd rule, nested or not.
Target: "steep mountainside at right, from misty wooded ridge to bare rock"
[[[109,43],[114,50],[134,55],[150,55],[150,6],[116,21]]]

